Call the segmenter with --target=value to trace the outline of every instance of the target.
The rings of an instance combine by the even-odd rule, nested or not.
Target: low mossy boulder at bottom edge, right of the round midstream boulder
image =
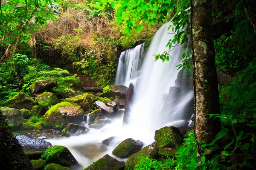
[[[129,158],[125,162],[125,169],[130,168],[131,170],[133,170],[136,164],[140,164],[142,158],[157,159],[159,158],[159,155],[157,150],[152,147],[152,145],[148,145],[139,152],[129,156]]]

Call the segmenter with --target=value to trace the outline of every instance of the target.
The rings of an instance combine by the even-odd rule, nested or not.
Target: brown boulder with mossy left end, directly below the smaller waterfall
[[[102,97],[108,97],[109,99],[117,98],[116,96],[119,96],[120,98],[125,99],[125,96],[127,94],[128,88],[124,85],[107,85],[105,88],[103,88]]]

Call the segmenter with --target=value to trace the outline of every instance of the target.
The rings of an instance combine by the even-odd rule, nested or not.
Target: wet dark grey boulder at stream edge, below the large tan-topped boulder
[[[81,126],[81,125],[76,125],[73,123],[67,124],[65,127],[66,130],[64,130],[64,133],[61,134],[62,136],[79,136],[83,133],[87,133],[90,131],[87,127]]]

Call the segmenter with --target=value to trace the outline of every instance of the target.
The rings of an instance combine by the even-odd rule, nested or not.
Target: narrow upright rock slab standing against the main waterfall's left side
[[[123,118],[123,124],[128,124],[129,122],[129,116],[131,112],[131,103],[134,95],[134,85],[130,84],[128,88],[127,95],[125,97],[125,112],[124,112],[124,118]]]

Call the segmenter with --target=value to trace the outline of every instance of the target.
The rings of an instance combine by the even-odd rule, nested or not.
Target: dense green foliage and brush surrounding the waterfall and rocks
[[[20,92],[32,96],[35,82],[43,79],[57,81],[52,91],[61,99],[79,92],[74,85],[83,80],[77,74],[85,74],[97,87],[113,84],[117,54],[141,42],[149,44],[155,31],[172,17],[174,26],[170,29],[175,31],[175,39],[166,46],[171,51],[175,45],[185,44],[183,64],[177,68],[191,69],[191,46],[187,43],[191,34],[187,25],[189,0],[1,2],[0,106]],[[256,167],[256,33],[249,14],[244,11],[249,8],[250,16],[255,19],[256,4],[253,0],[214,0],[213,4],[218,7],[213,11],[214,19],[232,23],[230,30],[222,31],[214,40],[217,71],[232,76],[220,87],[221,114],[207,115],[220,119],[221,131],[211,143],[202,144],[202,148],[197,148],[195,132],[188,132],[174,158],[142,158],[134,167],[136,170]],[[49,55],[55,63],[50,62]],[[171,57],[169,51],[155,55],[163,61],[171,61]],[[58,68],[56,61],[73,67]],[[40,115],[26,119],[22,126],[25,130],[44,127]],[[201,161],[197,160],[197,149],[204,152]]]

